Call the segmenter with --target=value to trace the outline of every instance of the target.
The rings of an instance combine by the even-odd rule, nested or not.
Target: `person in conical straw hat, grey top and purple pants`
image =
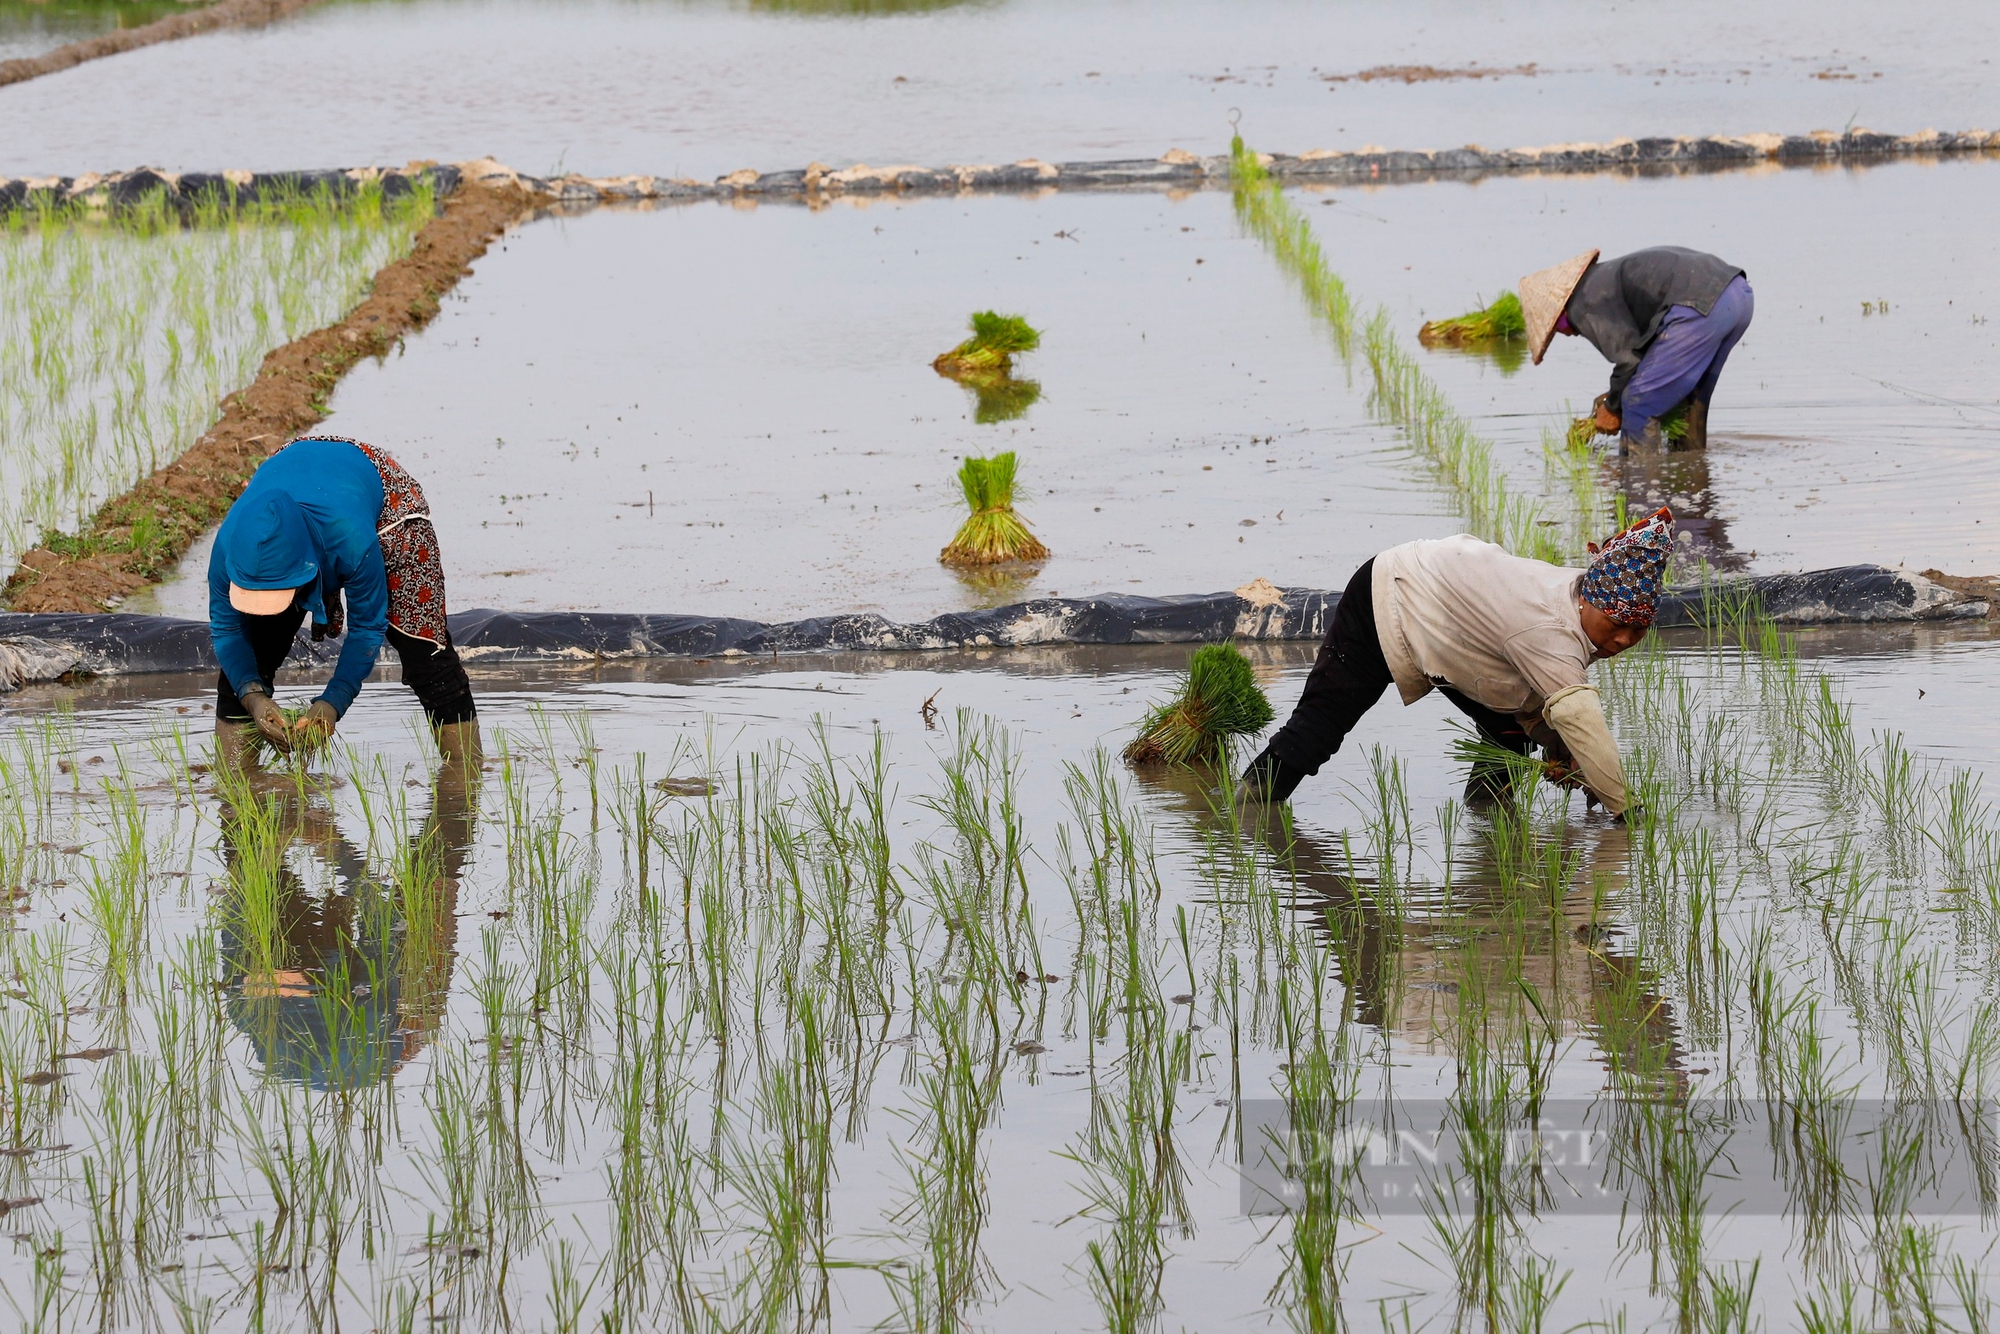
[[[1708,402],[1756,300],[1744,270],[1700,250],[1654,246],[1616,260],[1596,250],[1520,280],[1534,364],[1556,334],[1588,338],[1612,364],[1596,402],[1620,446],[1660,444],[1656,422],[1688,404],[1684,448],[1708,444]]]

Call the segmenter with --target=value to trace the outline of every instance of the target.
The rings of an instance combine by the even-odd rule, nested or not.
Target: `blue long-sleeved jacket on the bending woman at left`
[[[328,624],[326,608],[346,594],[346,642],[320,698],[346,714],[374,670],[388,630],[388,576],[382,570],[382,474],[344,440],[296,440],[250,476],[216,532],[208,556],[208,634],[222,674],[238,694],[270,686],[256,670],[230,584],[298,588],[294,606]]]

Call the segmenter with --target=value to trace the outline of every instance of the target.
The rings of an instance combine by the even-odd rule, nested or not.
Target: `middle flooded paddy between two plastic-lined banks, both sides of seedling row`
[[[1586,246],[1674,238],[1742,264],[1760,306],[1710,450],[1602,450],[1600,484],[1672,502],[1724,570],[1974,574],[2000,564],[2000,240],[1960,220],[1996,188],[1994,162],[1906,162],[1288,198],[1404,346]],[[982,306],[1046,330],[1016,422],[980,424],[928,366]],[[1568,504],[1544,434],[1602,390],[1594,350],[1420,366],[1516,492]],[[1368,384],[1224,192],[702,204],[524,226],[420,338],[346,378],[328,430],[392,442],[422,478],[456,606],[924,618],[1256,576],[1338,588],[1384,546],[1456,532],[1458,500]],[[934,562],[962,512],[952,470],[998,448],[1054,556],[962,580]],[[204,568],[198,548],[146,606],[200,616]]]

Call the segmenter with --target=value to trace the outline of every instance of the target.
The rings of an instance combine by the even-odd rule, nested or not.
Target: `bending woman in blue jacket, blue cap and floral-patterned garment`
[[[272,684],[308,614],[314,640],[346,642],[334,678],[288,728]],[[258,466],[208,558],[208,632],[222,664],[218,728],[252,722],[280,748],[324,742],[388,640],[446,758],[478,754],[472,684],[444,624],[430,506],[382,450],[306,436]]]

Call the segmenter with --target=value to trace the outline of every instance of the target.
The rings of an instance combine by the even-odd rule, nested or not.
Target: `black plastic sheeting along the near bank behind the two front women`
[[[606,658],[722,658],[800,652],[912,652],[1030,644],[1198,644],[1318,640],[1338,592],[1246,588],[1178,598],[1034,598],[980,612],[946,612],[920,624],[872,614],[766,624],[732,616],[622,612],[494,612],[452,616],[468,662],[592,662]],[[1740,610],[1786,624],[1908,622],[1984,616],[1986,604],[1882,566],[1766,574],[1706,588],[1676,588],[1660,626],[1698,626]],[[296,666],[330,664],[338,642],[292,650]],[[0,612],[0,690],[68,674],[214,670],[208,626],[170,616]]]

